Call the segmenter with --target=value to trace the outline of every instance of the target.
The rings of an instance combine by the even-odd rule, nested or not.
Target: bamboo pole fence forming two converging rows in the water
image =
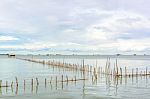
[[[61,84],[62,89],[64,87],[64,83],[69,83],[69,82],[77,82],[77,81],[85,81],[85,80],[89,80],[88,78],[86,78],[85,73],[91,73],[92,75],[90,76],[90,79],[92,82],[97,82],[98,79],[98,75],[104,75],[106,77],[106,79],[109,81],[110,78],[113,78],[114,82],[118,82],[118,78],[121,77],[139,77],[139,76],[148,76],[150,75],[150,71],[148,71],[148,68],[146,67],[145,70],[140,70],[139,68],[133,68],[132,70],[128,70],[127,67],[119,67],[118,66],[118,60],[115,60],[114,65],[112,66],[111,64],[111,60],[110,58],[107,58],[106,61],[106,65],[103,67],[98,66],[97,64],[97,60],[96,60],[96,65],[95,66],[91,66],[89,64],[85,64],[85,60],[82,59],[81,60],[81,64],[72,64],[72,63],[66,63],[66,62],[60,62],[60,61],[55,61],[55,60],[37,60],[37,59],[28,59],[28,58],[19,58],[17,57],[16,59],[20,59],[20,60],[24,60],[24,61],[29,61],[29,62],[34,62],[34,63],[40,63],[43,65],[48,65],[48,66],[53,66],[53,67],[57,67],[57,68],[63,68],[65,70],[70,70],[70,71],[80,71],[83,74],[82,78],[77,78],[76,76],[71,77],[68,75],[61,75],[61,77],[59,76],[55,76],[55,77],[50,77],[50,78],[45,78],[42,81],[42,84],[44,83],[45,87],[50,84],[50,85],[55,85],[56,89],[58,84]],[[109,79],[108,79],[109,78]],[[120,81],[121,81],[120,80]],[[127,80],[127,79],[125,79]],[[16,87],[16,94],[18,93],[18,87],[19,85],[23,85],[24,90],[26,89],[28,84],[28,80],[24,79],[22,82],[18,81],[18,78],[15,77],[15,81],[5,81],[5,83],[2,83],[3,81],[0,80],[0,90],[3,87],[6,87],[6,89],[8,87],[11,87],[13,89],[13,87]],[[31,90],[33,91],[33,87],[34,86],[39,86],[41,80],[39,81],[39,78],[31,78],[30,79],[30,85],[31,85]],[[122,82],[122,81],[121,81]]]

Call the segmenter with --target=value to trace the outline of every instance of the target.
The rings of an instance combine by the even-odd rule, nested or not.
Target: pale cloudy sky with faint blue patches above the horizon
[[[0,53],[150,54],[150,0],[0,0]]]

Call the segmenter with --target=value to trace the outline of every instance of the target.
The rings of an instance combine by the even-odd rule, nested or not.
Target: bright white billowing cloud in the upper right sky
[[[150,20],[140,14],[129,11],[107,11],[108,13],[109,17],[97,20],[96,23],[87,27],[88,37],[99,40],[111,39],[120,34],[130,34],[127,33],[129,30],[150,29]]]

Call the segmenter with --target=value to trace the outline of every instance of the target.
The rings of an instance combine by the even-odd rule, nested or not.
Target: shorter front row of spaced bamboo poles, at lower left
[[[19,86],[23,87],[23,90],[25,91],[26,88],[29,88],[29,85],[30,85],[30,88],[31,88],[31,91],[33,92],[33,89],[34,89],[34,86],[37,88],[38,86],[45,86],[45,88],[50,85],[50,86],[54,86],[56,87],[56,89],[58,88],[58,84],[61,85],[61,88],[63,89],[64,87],[64,83],[66,83],[66,85],[68,86],[68,83],[75,83],[78,82],[78,81],[85,81],[87,79],[84,79],[84,78],[77,78],[76,76],[74,77],[69,77],[69,76],[64,76],[64,75],[61,75],[60,76],[56,76],[56,77],[50,77],[50,78],[45,78],[43,79],[43,81],[41,81],[41,79],[39,80],[39,78],[31,78],[30,80],[26,80],[24,79],[23,81],[20,81],[18,80],[17,77],[15,77],[15,81],[11,81],[10,83],[8,81],[6,81],[6,83],[4,83],[2,80],[0,80],[0,93],[2,91],[2,88],[6,88],[6,93],[7,93],[7,90],[8,88],[11,88],[11,90],[13,90],[13,88],[16,89],[15,93],[18,94],[18,89],[19,89]],[[29,84],[30,83],[30,84]]]

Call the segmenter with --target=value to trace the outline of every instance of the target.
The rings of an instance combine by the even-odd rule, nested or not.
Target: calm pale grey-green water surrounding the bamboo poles
[[[132,68],[145,70],[150,65],[150,56],[17,56],[36,60],[57,60],[91,66],[105,67],[107,57],[111,59],[113,67],[116,58],[118,66],[131,72]],[[86,73],[87,80],[61,82],[66,79],[83,78],[80,71],[71,71],[54,66],[28,62],[16,58],[0,57],[0,80],[2,85],[8,85],[13,81],[13,87],[0,88],[0,99],[149,99],[150,97],[150,76],[113,78],[107,75],[98,75],[97,81],[91,80],[92,73]],[[148,69],[149,70],[149,69]],[[56,84],[56,76],[58,82]],[[19,86],[16,87],[15,77],[18,78]],[[38,78],[39,85],[35,78]],[[45,78],[47,83],[45,85]],[[34,80],[33,86],[31,80]],[[24,87],[24,80],[26,85]],[[50,81],[52,81],[50,83]]]

